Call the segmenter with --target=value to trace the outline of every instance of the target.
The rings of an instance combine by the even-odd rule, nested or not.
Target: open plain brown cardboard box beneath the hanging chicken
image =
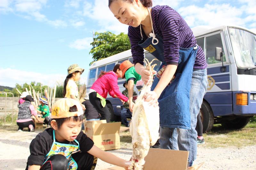
[[[150,148],[143,170],[185,170],[188,164],[188,153],[188,151]],[[124,170],[124,168],[114,166],[103,170]]]

